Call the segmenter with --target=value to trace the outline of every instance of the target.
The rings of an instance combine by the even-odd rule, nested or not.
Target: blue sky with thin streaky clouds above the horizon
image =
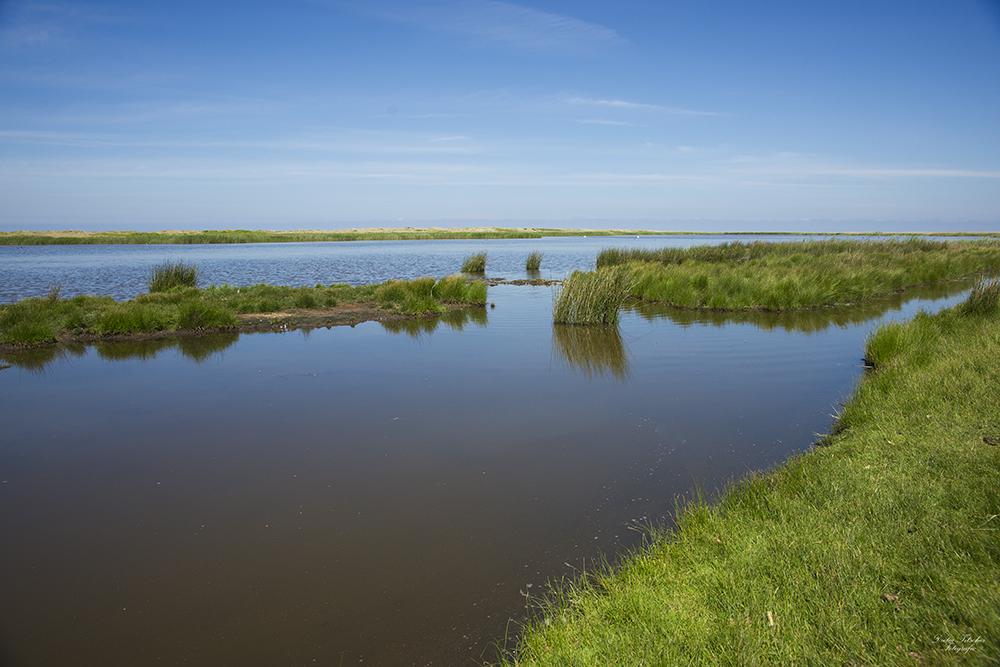
[[[0,0],[0,229],[1000,230],[1000,3]]]

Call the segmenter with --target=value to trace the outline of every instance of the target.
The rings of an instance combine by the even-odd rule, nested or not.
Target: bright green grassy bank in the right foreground
[[[877,330],[827,446],[556,586],[505,664],[1000,664],[998,293]]]

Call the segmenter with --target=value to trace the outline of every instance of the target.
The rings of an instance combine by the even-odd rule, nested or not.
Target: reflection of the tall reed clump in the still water
[[[617,326],[552,325],[553,349],[587,379],[611,375],[629,378],[628,351]]]

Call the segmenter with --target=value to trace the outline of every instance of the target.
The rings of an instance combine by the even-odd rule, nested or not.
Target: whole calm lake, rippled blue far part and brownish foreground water
[[[726,237],[0,247],[0,302],[205,282],[590,269]],[[742,240],[753,240],[743,237]],[[968,285],[750,317],[655,306],[554,327],[553,288],[447,320],[3,355],[0,665],[456,665],[547,581],[642,542],[678,496],[809,448],[879,322]]]

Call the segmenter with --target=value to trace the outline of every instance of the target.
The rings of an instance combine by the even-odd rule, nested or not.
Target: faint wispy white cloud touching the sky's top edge
[[[533,51],[580,51],[624,41],[596,23],[497,0],[378,3],[366,4],[361,11],[425,30]]]

